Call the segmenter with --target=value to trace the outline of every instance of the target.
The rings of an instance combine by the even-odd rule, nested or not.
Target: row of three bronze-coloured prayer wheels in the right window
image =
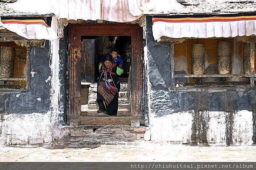
[[[192,74],[204,74],[204,44],[191,45]],[[243,70],[250,74],[250,44],[243,44]],[[217,44],[218,74],[231,74],[231,42],[221,41]]]

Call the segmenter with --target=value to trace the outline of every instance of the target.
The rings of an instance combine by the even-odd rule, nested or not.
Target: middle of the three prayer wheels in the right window
[[[231,74],[231,43],[221,41],[217,44],[217,69],[218,74]]]

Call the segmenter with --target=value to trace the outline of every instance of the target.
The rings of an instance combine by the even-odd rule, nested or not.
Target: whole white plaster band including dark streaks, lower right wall
[[[230,119],[227,117],[230,113],[221,111],[187,111],[162,117],[151,114],[151,140],[225,146],[253,144],[252,112],[237,111]]]

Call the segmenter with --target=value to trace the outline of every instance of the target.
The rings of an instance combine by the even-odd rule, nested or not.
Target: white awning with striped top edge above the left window
[[[54,40],[58,38],[56,31],[43,19],[2,19],[0,26],[27,39]]]

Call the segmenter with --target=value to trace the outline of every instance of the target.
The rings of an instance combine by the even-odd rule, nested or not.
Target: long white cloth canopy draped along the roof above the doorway
[[[170,11],[182,5],[176,0],[18,0],[9,7],[38,14],[53,13],[58,19],[126,23],[140,18],[143,11]]]

